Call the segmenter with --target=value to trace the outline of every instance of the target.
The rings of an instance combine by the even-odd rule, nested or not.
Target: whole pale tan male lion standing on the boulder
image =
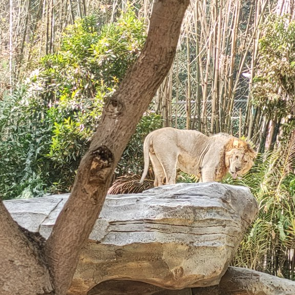
[[[151,132],[143,143],[144,171],[149,168],[149,156],[155,173],[154,186],[175,184],[176,169],[193,174],[200,182],[220,181],[227,172],[233,178],[243,175],[254,164],[256,152],[249,143],[229,134],[206,136],[195,130],[170,127]]]

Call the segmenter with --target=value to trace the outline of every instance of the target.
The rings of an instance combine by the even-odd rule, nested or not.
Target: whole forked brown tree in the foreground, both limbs
[[[172,65],[189,0],[156,0],[145,47],[106,103],[71,196],[44,244],[14,223],[0,204],[2,295],[64,295],[109,188],[112,174],[143,112]]]

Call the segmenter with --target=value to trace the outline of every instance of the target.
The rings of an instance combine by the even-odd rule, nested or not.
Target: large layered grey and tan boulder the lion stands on
[[[66,195],[5,202],[13,218],[46,238]],[[82,251],[70,294],[108,280],[167,289],[216,285],[257,214],[246,187],[166,185],[109,195]]]

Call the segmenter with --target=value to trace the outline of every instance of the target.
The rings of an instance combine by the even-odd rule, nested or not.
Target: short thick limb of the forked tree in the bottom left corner
[[[1,295],[51,294],[44,238],[20,227],[0,200]]]

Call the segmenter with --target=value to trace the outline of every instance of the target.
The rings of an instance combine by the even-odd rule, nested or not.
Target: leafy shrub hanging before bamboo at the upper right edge
[[[295,21],[270,15],[262,27],[254,103],[271,118],[295,115]]]

